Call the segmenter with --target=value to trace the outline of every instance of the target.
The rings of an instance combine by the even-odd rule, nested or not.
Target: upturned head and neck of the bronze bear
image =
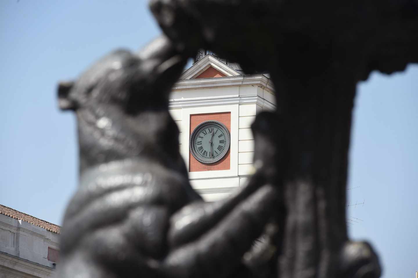
[[[77,116],[82,171],[138,156],[178,159],[168,95],[186,60],[161,37],[138,54],[113,51],[75,82],[59,84],[59,107]]]

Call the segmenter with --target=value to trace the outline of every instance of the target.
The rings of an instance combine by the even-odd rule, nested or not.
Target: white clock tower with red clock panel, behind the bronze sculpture
[[[174,84],[169,109],[191,185],[216,201],[245,184],[254,153],[250,125],[276,107],[268,74],[245,75],[238,64],[201,51]]]

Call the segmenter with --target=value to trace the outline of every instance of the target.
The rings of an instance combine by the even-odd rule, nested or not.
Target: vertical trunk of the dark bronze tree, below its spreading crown
[[[337,74],[275,83],[285,95],[283,194],[288,214],[280,277],[335,277],[341,271],[339,255],[348,240],[345,202],[355,82],[332,75]],[[378,276],[377,267],[372,277]]]

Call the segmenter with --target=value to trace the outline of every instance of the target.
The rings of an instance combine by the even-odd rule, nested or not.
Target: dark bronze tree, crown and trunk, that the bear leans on
[[[370,245],[347,238],[352,108],[357,82],[370,71],[418,62],[418,1],[151,3],[178,48],[199,45],[248,72],[271,73],[279,123],[270,128],[282,133],[276,171],[287,212],[276,239],[278,277],[380,276]]]

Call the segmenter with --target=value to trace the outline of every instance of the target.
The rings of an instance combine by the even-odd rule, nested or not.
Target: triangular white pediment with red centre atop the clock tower
[[[232,77],[241,75],[238,71],[222,63],[212,55],[206,55],[187,69],[181,79]]]

